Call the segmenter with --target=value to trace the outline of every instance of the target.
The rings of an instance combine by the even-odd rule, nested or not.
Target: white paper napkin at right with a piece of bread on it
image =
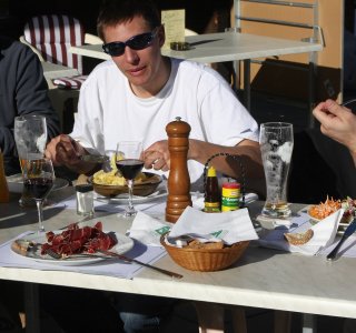
[[[301,226],[296,228],[294,230],[276,229],[274,231],[268,232],[264,236],[261,236],[258,243],[266,248],[273,248],[273,249],[284,250],[288,252],[298,252],[307,255],[317,254],[324,248],[327,248],[330,244],[333,244],[337,233],[338,224],[343,218],[343,214],[344,214],[344,210],[340,209],[337,212],[333,213],[332,215],[325,218],[324,220],[313,225],[310,228],[314,232],[313,238],[303,245],[289,244],[285,240],[284,233],[305,232],[308,229],[306,226],[309,226],[309,223],[307,223],[307,225],[303,224]]]

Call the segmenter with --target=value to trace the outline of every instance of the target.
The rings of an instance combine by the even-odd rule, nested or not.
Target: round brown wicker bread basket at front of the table
[[[161,235],[161,245],[178,265],[200,272],[220,271],[230,266],[243,255],[249,244],[249,241],[244,241],[224,249],[191,249],[172,246],[165,240],[166,235]]]

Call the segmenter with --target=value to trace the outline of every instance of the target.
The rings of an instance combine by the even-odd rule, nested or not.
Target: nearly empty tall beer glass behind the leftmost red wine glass
[[[23,174],[23,165],[28,160],[39,160],[44,155],[47,143],[46,118],[43,115],[17,117],[13,134]],[[34,204],[26,188],[22,190],[19,203],[21,206]]]

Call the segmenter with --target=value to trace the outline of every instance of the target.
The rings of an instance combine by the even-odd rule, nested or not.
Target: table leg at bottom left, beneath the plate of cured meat
[[[24,283],[26,333],[40,332],[39,285]]]

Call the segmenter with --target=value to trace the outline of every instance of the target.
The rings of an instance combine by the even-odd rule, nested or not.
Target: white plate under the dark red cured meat
[[[56,234],[57,233],[61,233],[61,231],[53,231]],[[108,231],[105,231],[106,233],[109,233]],[[119,234],[117,232],[113,232],[113,234],[117,238],[118,243],[112,246],[112,249],[110,249],[110,252],[116,252],[118,254],[123,254],[128,251],[130,251],[134,248],[134,240],[123,235],[123,234]],[[43,235],[38,235],[38,234],[30,234],[26,236],[26,240],[28,241],[32,241],[36,243],[44,243],[46,242],[46,236]],[[11,249],[12,250],[12,249]],[[48,254],[46,255],[41,255],[40,254],[40,249],[38,249],[33,254],[31,254],[31,256],[27,256],[27,255],[22,255],[19,254],[18,252],[14,252],[12,250],[13,253],[21,255],[22,258],[27,258],[29,260],[33,260],[43,264],[56,264],[56,265],[66,265],[66,266],[78,266],[78,265],[87,265],[87,264],[92,264],[96,262],[100,262],[103,260],[107,260],[106,258],[83,258],[80,256],[80,254],[78,254],[78,258],[76,258],[76,255],[70,256],[68,259],[53,259],[51,256],[49,256]],[[111,260],[111,259],[108,259]]]

